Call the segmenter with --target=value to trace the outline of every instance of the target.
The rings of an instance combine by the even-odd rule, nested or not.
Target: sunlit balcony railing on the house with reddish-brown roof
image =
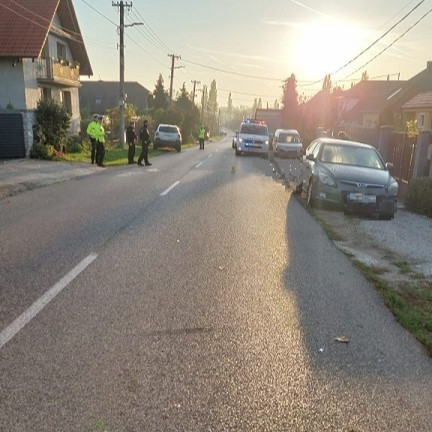
[[[38,59],[37,79],[51,84],[79,86],[79,65],[63,60]]]

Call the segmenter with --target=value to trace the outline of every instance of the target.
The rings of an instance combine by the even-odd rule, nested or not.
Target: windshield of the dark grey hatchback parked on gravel
[[[325,144],[320,160],[324,163],[384,169],[377,152],[365,147]]]

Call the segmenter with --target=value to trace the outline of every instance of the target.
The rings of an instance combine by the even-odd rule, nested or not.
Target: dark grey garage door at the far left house
[[[0,113],[0,159],[25,157],[23,116]]]

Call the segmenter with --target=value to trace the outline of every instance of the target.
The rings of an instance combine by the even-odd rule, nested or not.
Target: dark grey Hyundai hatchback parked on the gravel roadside
[[[362,211],[392,219],[398,183],[378,151],[367,144],[318,138],[306,149],[303,182],[307,204],[330,203],[345,212]],[[298,190],[300,191],[300,190]]]

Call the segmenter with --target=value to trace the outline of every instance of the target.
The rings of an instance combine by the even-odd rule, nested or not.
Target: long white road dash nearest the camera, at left
[[[60,294],[96,258],[96,254],[91,254],[87,258],[84,258],[66,276],[60,279],[42,297],[25,310],[12,324],[6,327],[0,333],[0,349],[2,349],[26,324],[28,324],[46,305],[48,305],[51,300]]]

